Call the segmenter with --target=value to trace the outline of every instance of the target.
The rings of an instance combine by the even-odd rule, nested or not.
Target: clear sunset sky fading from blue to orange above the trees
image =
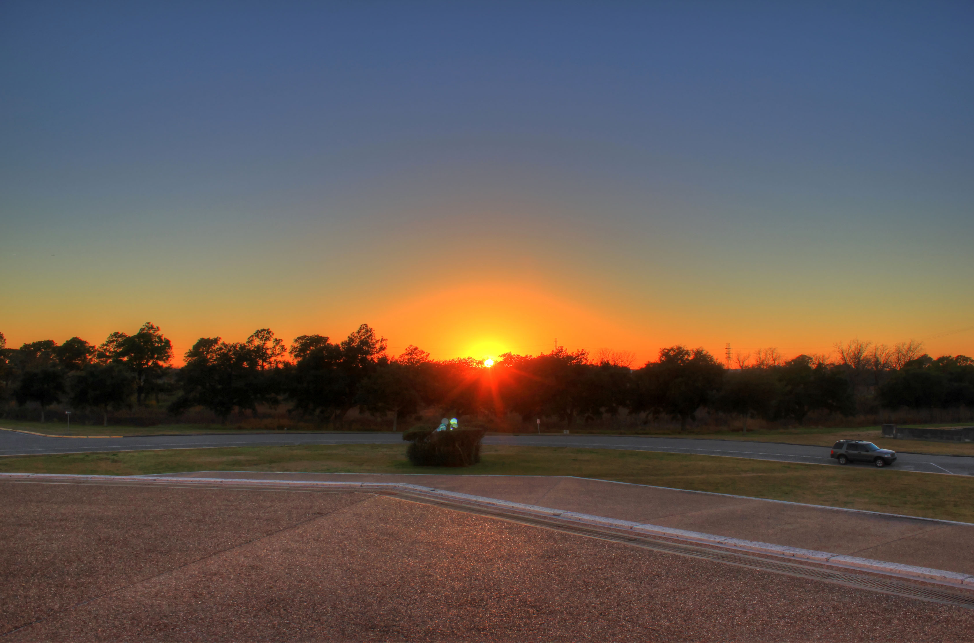
[[[974,5],[0,4],[0,331],[974,355]]]

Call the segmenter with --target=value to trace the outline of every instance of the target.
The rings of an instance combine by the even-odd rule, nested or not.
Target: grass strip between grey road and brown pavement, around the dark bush
[[[0,458],[0,472],[190,471],[579,475],[974,522],[974,477],[615,449],[485,446],[467,469],[411,466],[402,445],[347,444],[123,451]]]

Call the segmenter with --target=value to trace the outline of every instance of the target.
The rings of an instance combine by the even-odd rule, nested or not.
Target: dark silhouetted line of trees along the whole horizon
[[[145,323],[132,335],[113,332],[97,346],[72,337],[6,347],[0,333],[0,404],[29,402],[41,420],[56,403],[100,412],[161,399],[180,415],[205,408],[226,422],[234,412],[256,416],[262,407],[341,426],[354,408],[403,420],[436,407],[457,417],[557,420],[566,426],[618,417],[668,417],[686,430],[700,409],[801,423],[809,413],[852,415],[874,409],[974,406],[974,360],[932,359],[915,341],[893,347],[852,340],[837,344],[837,359],[800,355],[783,359],[774,349],[738,353],[726,367],[707,351],[672,346],[633,368],[631,354],[557,347],[539,356],[507,353],[490,367],[479,359],[433,360],[409,346],[400,355],[367,324],[332,342],[302,335],[290,346],[269,328],[244,342],[203,337],[173,367],[172,345]]]

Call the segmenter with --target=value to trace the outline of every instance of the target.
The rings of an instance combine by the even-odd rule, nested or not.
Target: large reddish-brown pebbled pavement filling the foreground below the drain
[[[3,482],[0,505],[11,641],[963,641],[974,630],[970,609],[368,494]]]

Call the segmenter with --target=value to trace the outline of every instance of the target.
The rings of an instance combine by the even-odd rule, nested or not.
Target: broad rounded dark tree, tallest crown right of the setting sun
[[[702,348],[661,349],[659,359],[637,373],[633,407],[679,418],[680,431],[686,431],[688,420],[716,395],[723,377],[724,367]]]

